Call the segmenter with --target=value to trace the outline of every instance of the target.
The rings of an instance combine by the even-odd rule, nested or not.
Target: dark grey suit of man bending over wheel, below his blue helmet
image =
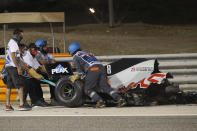
[[[109,94],[114,100],[122,102],[121,96],[113,90],[107,83],[107,75],[101,62],[91,53],[77,51],[73,55],[74,65],[82,77],[85,79],[85,94],[91,99],[101,104],[102,98],[95,92],[94,88],[99,85],[104,92]]]

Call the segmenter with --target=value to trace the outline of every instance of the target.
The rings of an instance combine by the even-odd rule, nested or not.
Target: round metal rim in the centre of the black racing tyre
[[[61,96],[68,100],[68,99],[72,99],[75,95],[75,89],[74,86],[71,84],[63,84],[61,87]]]

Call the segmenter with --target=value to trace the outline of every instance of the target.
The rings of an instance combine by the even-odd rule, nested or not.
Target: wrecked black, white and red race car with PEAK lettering
[[[127,101],[128,106],[196,103],[197,93],[181,91],[178,84],[169,81],[173,76],[161,72],[158,65],[157,60],[123,58],[106,65],[105,69],[110,87]],[[80,107],[93,102],[84,93],[83,80],[70,81],[73,69],[69,62],[46,65],[46,69],[49,80],[56,82],[58,102],[66,107]],[[114,103],[100,88],[95,91],[106,103]]]

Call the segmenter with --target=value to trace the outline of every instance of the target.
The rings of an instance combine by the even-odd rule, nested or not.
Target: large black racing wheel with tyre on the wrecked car
[[[80,107],[84,104],[83,83],[80,80],[72,83],[68,76],[63,77],[57,82],[55,96],[66,107]]]

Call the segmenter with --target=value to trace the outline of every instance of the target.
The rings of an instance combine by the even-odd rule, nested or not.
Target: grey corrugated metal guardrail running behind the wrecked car
[[[1,55],[0,58],[5,58],[5,56]],[[197,53],[115,55],[115,56],[97,56],[97,58],[100,61],[102,61],[103,64],[108,64],[110,62],[116,61],[121,58],[158,59],[160,70],[162,72],[170,72],[173,74],[174,78],[170,79],[171,82],[178,83],[180,88],[183,89],[184,91],[197,90]],[[55,59],[56,61],[72,61],[72,58],[69,57],[68,54],[57,56],[55,57]],[[0,81],[0,83],[1,82],[2,81]],[[48,94],[49,89],[47,88],[43,88],[43,89],[45,96],[49,97]],[[0,94],[2,94],[1,90],[0,90]]]

